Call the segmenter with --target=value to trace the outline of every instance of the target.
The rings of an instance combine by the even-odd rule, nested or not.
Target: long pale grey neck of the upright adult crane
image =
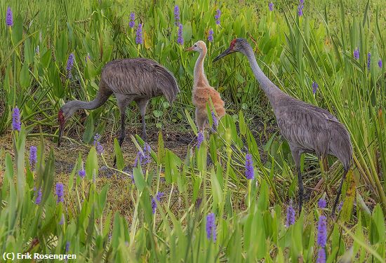
[[[258,80],[258,83],[260,83],[260,86],[262,90],[264,91],[265,95],[267,95],[269,102],[271,104],[274,104],[275,99],[281,95],[285,94],[283,91],[281,91],[270,79],[268,79],[267,76],[265,76],[264,72],[260,69],[258,62],[255,58],[255,53],[253,53],[252,47],[247,44],[244,46],[244,49],[241,50],[241,53],[244,53],[246,57],[248,58],[249,65],[251,65],[251,69],[253,71],[253,74],[255,75],[255,78]]]

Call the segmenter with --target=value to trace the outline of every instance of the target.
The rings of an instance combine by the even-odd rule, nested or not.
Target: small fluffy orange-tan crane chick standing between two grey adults
[[[225,115],[224,102],[221,100],[220,93],[209,85],[208,79],[205,76],[204,59],[207,51],[205,42],[197,41],[193,46],[187,48],[186,51],[197,51],[200,53],[196,65],[194,65],[192,101],[196,107],[197,126],[200,132],[204,132],[204,128],[208,128],[206,103],[209,103],[209,98],[211,98],[215,114],[219,118]]]

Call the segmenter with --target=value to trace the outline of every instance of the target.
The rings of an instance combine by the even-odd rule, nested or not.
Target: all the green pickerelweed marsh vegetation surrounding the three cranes
[[[146,0],[138,8],[117,7],[111,0],[14,2],[0,1],[4,25],[0,27],[0,133],[12,130],[13,115],[21,117],[11,132],[13,152],[0,148],[1,255],[67,251],[78,255],[79,262],[316,262],[319,257],[326,262],[382,262],[385,258],[385,1],[352,5],[338,1],[333,6],[324,6],[324,1],[274,1],[272,12],[267,1],[254,1],[256,8],[248,1],[226,0],[222,6],[184,1],[178,3],[178,25],[170,1]],[[299,5],[303,5],[301,16]],[[135,25],[127,30],[131,12],[136,14]],[[214,41],[208,45],[206,74],[226,101],[229,115],[218,120],[209,135],[201,134],[201,145],[196,147],[194,141],[185,159],[166,149],[160,134],[158,147],[150,151],[152,161],[128,173],[123,172],[127,163],[117,140],[116,168],[107,166],[107,149],[99,148],[98,154],[91,145],[88,156],[79,154],[66,180],[58,180],[54,152],[45,150],[43,139],[36,147],[34,169],[26,165],[26,136],[56,140],[58,109],[68,100],[92,100],[102,67],[118,58],[152,58],[168,68],[182,92],[173,107],[164,97],[151,100],[147,118],[157,128],[168,126],[169,120],[189,123],[197,136],[191,117],[196,60],[182,50],[205,40],[209,29]],[[329,170],[321,173],[316,156],[303,156],[301,167],[310,163],[309,170],[302,171],[310,197],[298,215],[291,152],[278,133],[269,133],[267,123],[276,127],[272,109],[248,62],[239,55],[211,62],[234,37],[248,39],[260,67],[279,88],[328,109],[349,130],[354,161],[336,221],[328,211],[342,175],[340,163],[329,157]],[[72,79],[67,79],[71,53]],[[13,110],[16,106],[18,114]],[[140,125],[138,111],[126,114],[133,126]],[[214,117],[208,114],[211,127]],[[117,120],[119,109],[110,97],[105,107],[68,120],[67,132],[81,134],[86,144],[93,144],[98,133],[103,138],[96,140],[98,147],[106,141],[107,127],[117,130]],[[262,125],[256,125],[260,120]],[[36,132],[39,126],[42,133]],[[65,140],[79,143],[70,137]],[[139,137],[132,142],[143,151]],[[253,180],[245,177],[247,152],[253,160]],[[107,192],[117,188],[99,177],[101,163],[124,177],[118,202],[127,215],[114,210]],[[62,182],[63,190],[59,193],[63,201],[58,203],[57,182]],[[159,192],[164,196],[159,203],[154,199],[157,213],[153,214],[152,197]],[[328,196],[323,209],[317,208],[322,192]],[[206,216],[211,213],[215,242],[208,240],[206,232]],[[327,217],[323,250],[317,244],[322,215]]]

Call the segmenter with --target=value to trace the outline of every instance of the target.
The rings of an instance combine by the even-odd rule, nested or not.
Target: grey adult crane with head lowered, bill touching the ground
[[[102,69],[99,82],[99,90],[94,100],[83,102],[72,100],[63,105],[58,112],[59,140],[65,128],[65,122],[78,109],[96,109],[104,104],[112,93],[117,98],[119,111],[121,112],[121,134],[119,146],[125,138],[125,110],[133,100],[140,108],[142,116],[142,138],[146,141],[145,112],[149,99],[164,95],[168,102],[172,103],[179,92],[177,81],[171,72],[159,65],[154,60],[147,58],[130,58],[113,60]],[[114,161],[115,163],[115,161]]]

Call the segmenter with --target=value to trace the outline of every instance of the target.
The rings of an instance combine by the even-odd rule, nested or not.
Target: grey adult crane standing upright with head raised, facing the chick
[[[302,210],[303,195],[300,155],[304,152],[315,153],[318,158],[324,160],[327,154],[331,154],[342,162],[345,171],[331,212],[333,215],[343,181],[352,163],[352,145],[347,129],[326,109],[297,100],[275,86],[258,66],[253,49],[246,39],[232,40],[229,48],[218,55],[213,62],[234,52],[241,52],[248,58],[255,78],[274,109],[281,135],[288,141],[291,148],[298,170],[299,213]]]

